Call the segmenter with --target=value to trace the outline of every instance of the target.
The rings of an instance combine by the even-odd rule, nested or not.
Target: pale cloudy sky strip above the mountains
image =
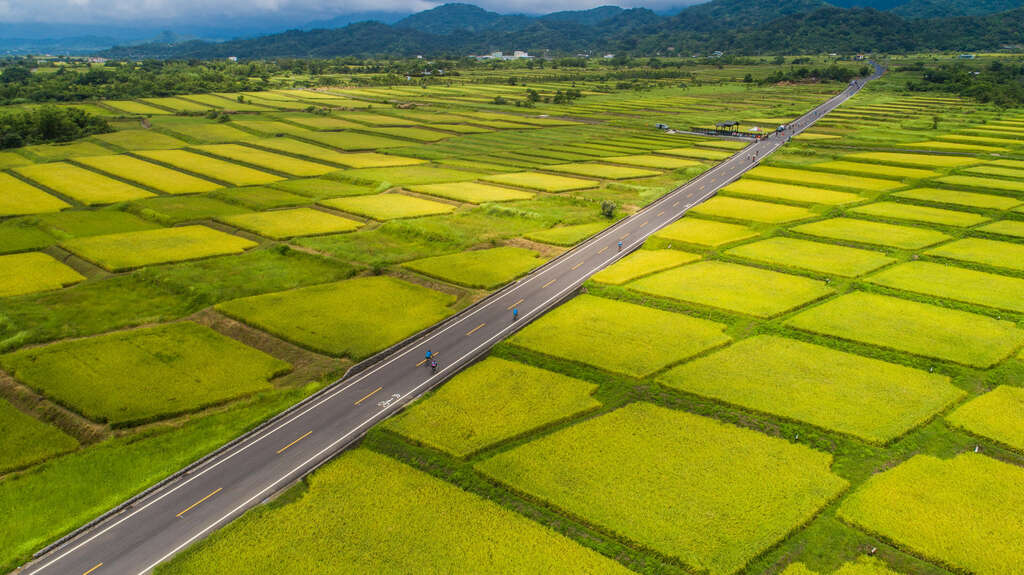
[[[692,4],[698,0],[484,0],[471,2],[501,13],[547,13],[614,3],[651,9]],[[209,18],[283,21],[329,18],[353,12],[417,12],[442,2],[427,0],[0,0],[3,23],[76,23],[215,25]],[[226,23],[225,23],[226,24]]]

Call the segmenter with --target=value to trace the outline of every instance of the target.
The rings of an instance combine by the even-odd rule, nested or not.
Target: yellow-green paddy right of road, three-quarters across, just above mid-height
[[[856,277],[896,261],[879,252],[795,237],[769,237],[738,246],[726,254],[845,277]]]

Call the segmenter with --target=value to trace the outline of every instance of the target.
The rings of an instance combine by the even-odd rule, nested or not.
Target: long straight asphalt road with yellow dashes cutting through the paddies
[[[872,78],[878,75],[877,71]],[[849,86],[796,120],[785,135],[806,129],[858,89]],[[785,136],[773,135],[751,144],[420,341],[396,350],[373,368],[335,384],[315,401],[42,556],[26,566],[25,573],[134,575],[151,571],[323,465],[374,424],[564,301],[592,274],[738,178],[784,140]],[[513,307],[519,310],[516,320]],[[428,348],[439,364],[435,374],[423,361]]]

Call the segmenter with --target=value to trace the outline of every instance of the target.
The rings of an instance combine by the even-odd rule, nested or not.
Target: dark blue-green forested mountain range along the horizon
[[[116,47],[103,55],[460,57],[515,49],[546,55],[652,56],[717,50],[732,54],[988,50],[1024,44],[1022,5],[1024,0],[711,0],[673,15],[601,6],[529,16],[453,3],[391,25],[361,21],[218,43],[153,42]],[[936,10],[942,15],[915,15]]]

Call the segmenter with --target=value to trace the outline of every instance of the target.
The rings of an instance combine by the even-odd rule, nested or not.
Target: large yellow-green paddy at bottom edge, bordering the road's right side
[[[424,566],[434,573],[467,566],[503,575],[631,573],[489,499],[367,449],[344,453],[308,484],[291,503],[246,515],[157,573],[255,575],[283,565],[302,573],[334,570],[329,566],[351,573],[422,573]]]

